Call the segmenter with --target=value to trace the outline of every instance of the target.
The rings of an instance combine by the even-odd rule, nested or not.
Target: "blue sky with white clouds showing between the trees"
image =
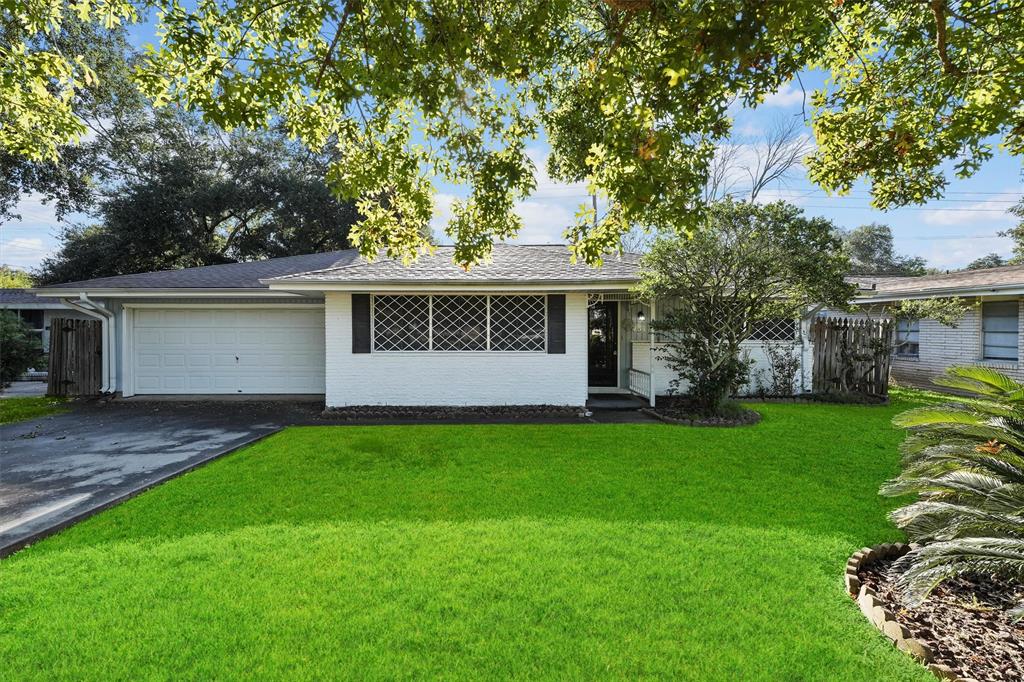
[[[152,35],[148,27],[136,27],[133,31],[138,43],[153,40]],[[820,76],[807,74],[801,80],[810,88],[820,82]],[[803,124],[804,111],[804,92],[796,82],[780,88],[755,111],[737,108],[733,116],[733,143],[750,148],[765,128],[781,119],[794,118]],[[809,128],[807,132],[809,135]],[[538,188],[534,197],[517,207],[524,224],[517,241],[561,243],[562,231],[572,222],[577,207],[588,200],[586,190],[581,185],[560,184],[547,177],[544,168],[548,146],[543,138],[530,145],[529,154],[538,167]],[[803,169],[797,169],[788,181],[772,187],[763,199],[784,199],[808,214],[831,219],[841,227],[886,223],[893,228],[900,253],[923,256],[933,267],[963,267],[991,252],[1008,256],[1011,242],[998,237],[998,232],[1016,223],[1007,209],[1024,194],[1021,162],[1000,152],[974,177],[959,180],[951,173],[949,177],[949,188],[942,200],[889,212],[870,208],[866,184],[857,185],[847,197],[828,197],[808,181]],[[439,186],[434,220],[438,235],[455,194],[452,187]],[[0,262],[36,267],[56,248],[60,225],[50,207],[38,197],[26,197],[18,210],[20,221],[0,226]]]

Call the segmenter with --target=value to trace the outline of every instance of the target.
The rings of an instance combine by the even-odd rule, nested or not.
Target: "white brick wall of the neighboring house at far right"
[[[1020,335],[1024,333],[1024,300],[1018,301],[1018,352]],[[931,385],[933,377],[953,365],[984,365],[1024,381],[1020,361],[983,360],[981,357],[981,306],[972,307],[955,329],[934,319],[921,321],[920,355],[916,358],[893,359],[892,376],[902,383]],[[1019,360],[1020,358],[1018,358]]]

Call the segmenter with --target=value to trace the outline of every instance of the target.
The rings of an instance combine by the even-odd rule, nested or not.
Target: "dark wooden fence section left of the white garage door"
[[[98,319],[50,321],[47,395],[98,395],[102,386],[102,331]]]

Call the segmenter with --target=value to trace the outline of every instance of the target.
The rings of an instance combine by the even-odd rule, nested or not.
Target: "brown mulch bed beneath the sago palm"
[[[894,588],[892,565],[892,560],[870,563],[860,569],[860,581],[932,648],[934,663],[961,679],[1024,680],[1024,621],[1014,622],[1008,612],[1024,598],[1024,586],[993,579],[949,580],[920,606],[910,607]]]

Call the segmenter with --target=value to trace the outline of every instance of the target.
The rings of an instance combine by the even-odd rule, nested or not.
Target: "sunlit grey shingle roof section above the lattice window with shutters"
[[[608,256],[601,267],[572,263],[564,245],[514,246],[496,244],[489,261],[468,271],[452,262],[454,247],[437,247],[410,265],[381,257],[373,262],[359,259],[311,272],[276,278],[274,284],[288,282],[622,282],[636,280],[640,256]]]

